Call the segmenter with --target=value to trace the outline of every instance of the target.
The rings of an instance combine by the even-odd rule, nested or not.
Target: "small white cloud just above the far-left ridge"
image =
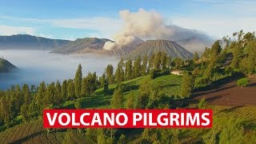
[[[0,34],[1,35],[35,34],[35,30],[32,27],[0,25]]]

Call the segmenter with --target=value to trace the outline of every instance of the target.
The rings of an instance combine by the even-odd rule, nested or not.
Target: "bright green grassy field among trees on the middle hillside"
[[[144,76],[140,78],[134,78],[129,81],[121,82],[125,87],[124,98],[128,98],[129,94],[134,96],[138,95],[139,85],[144,78],[149,78],[150,76]],[[162,77],[155,78],[152,80],[152,86],[161,86],[161,92],[168,97],[179,97],[180,86],[182,82],[182,77],[174,74],[164,75]],[[110,94],[103,94],[103,88],[99,88],[94,92],[94,95],[87,98],[78,98],[75,101],[65,102],[62,107],[64,108],[74,108],[75,102],[81,102],[82,108],[109,108],[110,99],[117,87],[117,84],[109,86]]]

